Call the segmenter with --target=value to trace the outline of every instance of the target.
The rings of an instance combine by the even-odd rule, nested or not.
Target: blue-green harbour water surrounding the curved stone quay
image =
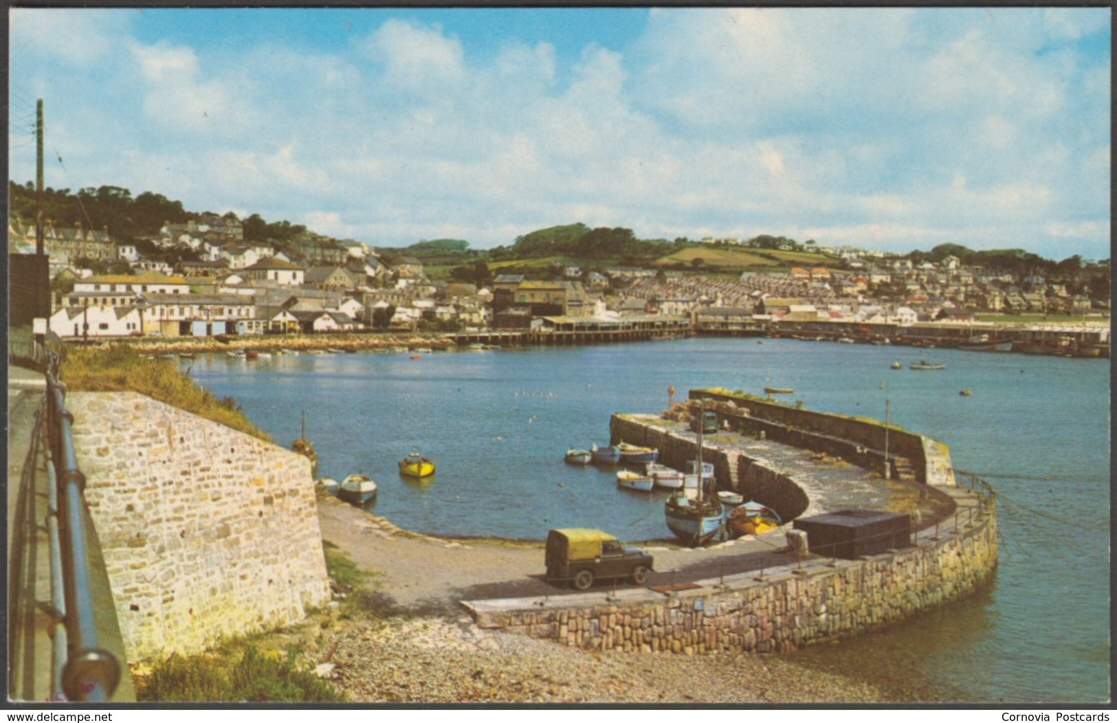
[[[911,371],[920,359],[941,371]],[[901,370],[890,369],[894,361]],[[207,355],[191,374],[231,396],[278,444],[307,437],[319,475],[363,472],[373,508],[417,532],[540,540],[600,526],[669,538],[659,493],[564,464],[603,444],[609,418],[659,412],[723,387],[884,418],[951,447],[997,491],[1000,567],[987,590],[887,632],[796,653],[810,665],[928,682],[944,700],[1101,703],[1109,689],[1109,364],[1016,354],[754,339],[245,361]],[[972,391],[962,396],[963,389]],[[401,477],[412,450],[433,478]],[[870,670],[871,672],[871,670]]]

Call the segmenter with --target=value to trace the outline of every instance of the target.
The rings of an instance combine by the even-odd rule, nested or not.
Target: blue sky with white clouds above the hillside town
[[[371,245],[1109,257],[1108,8],[48,8],[9,39],[18,182],[42,98],[50,187]]]

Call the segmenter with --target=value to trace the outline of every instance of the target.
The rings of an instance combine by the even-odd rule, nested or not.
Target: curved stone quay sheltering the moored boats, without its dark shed
[[[911,618],[972,593],[994,573],[992,488],[968,476],[958,484],[949,450],[922,435],[725,390],[691,390],[688,403],[662,417],[614,415],[612,441],[653,446],[667,464],[681,466],[697,451],[685,421],[699,409],[718,416],[719,431],[704,439],[703,458],[714,462],[720,487],[784,520],[851,507],[906,512],[908,544],[836,559],[784,525],[731,543],[741,550],[736,567],[746,572],[462,602],[477,625],[594,650],[787,651]],[[880,474],[886,465],[888,479]],[[747,564],[776,546],[790,562]],[[653,581],[662,582],[659,572]]]

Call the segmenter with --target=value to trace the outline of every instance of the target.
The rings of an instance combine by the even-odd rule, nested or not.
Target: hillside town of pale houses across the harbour
[[[10,253],[34,253],[34,225],[9,220]],[[277,248],[245,240],[235,215],[166,223],[150,239],[199,260],[173,266],[116,242],[106,229],[47,222],[49,331],[61,340],[318,334],[374,330],[528,330],[548,320],[619,321],[722,311],[771,322],[972,322],[978,314],[1108,317],[1107,299],[1042,276],[1020,279],[963,265],[843,250],[840,265],[739,276],[650,267],[554,269],[526,278],[493,269],[481,287],[432,280],[413,257],[391,265],[366,245],[306,232]],[[706,242],[724,242],[707,239]],[[817,249],[821,253],[822,249]],[[820,256],[820,258],[822,258]],[[114,270],[95,273],[112,261]],[[1060,279],[1065,280],[1065,279]],[[1079,289],[1081,291],[1081,289]]]

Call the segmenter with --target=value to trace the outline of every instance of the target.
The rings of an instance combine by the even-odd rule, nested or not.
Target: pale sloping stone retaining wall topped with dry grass
[[[70,392],[131,659],[192,653],[330,599],[309,460],[135,392]]]

